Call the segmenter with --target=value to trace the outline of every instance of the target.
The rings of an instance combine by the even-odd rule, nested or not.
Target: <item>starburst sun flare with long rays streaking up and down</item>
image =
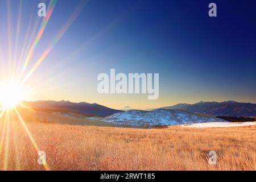
[[[12,28],[11,20],[13,19],[11,16],[11,2],[8,2],[8,10],[7,10],[7,23],[8,27],[7,30],[8,34],[8,44],[7,49],[9,55],[8,59],[3,56],[0,45],[0,63],[1,68],[4,68],[1,73],[1,80],[0,80],[0,127],[1,127],[1,134],[0,134],[0,158],[3,158],[3,169],[7,170],[11,168],[11,163],[9,162],[11,156],[11,142],[14,141],[15,143],[15,162],[16,162],[16,169],[20,169],[19,160],[20,156],[18,154],[18,138],[15,139],[15,132],[16,130],[21,130],[22,128],[26,131],[28,138],[30,139],[32,145],[34,146],[35,151],[40,151],[39,145],[36,143],[36,140],[32,136],[29,128],[26,125],[27,118],[26,112],[27,109],[32,110],[30,105],[26,105],[27,102],[22,102],[28,100],[28,97],[31,97],[31,92],[33,92],[33,88],[28,86],[27,89],[24,85],[27,82],[28,78],[33,75],[39,65],[47,58],[49,53],[51,53],[53,47],[59,43],[60,39],[63,38],[65,32],[68,31],[68,28],[71,27],[73,22],[75,22],[77,16],[82,12],[85,5],[89,2],[89,0],[81,0],[79,5],[77,5],[75,11],[71,16],[68,18],[67,22],[61,27],[57,35],[54,36],[53,40],[49,42],[48,47],[44,49],[41,56],[38,60],[33,60],[34,55],[36,53],[37,47],[39,45],[40,40],[42,40],[44,31],[46,30],[47,24],[51,19],[53,14],[53,10],[55,9],[55,5],[57,0],[50,0],[46,17],[42,20],[41,18],[36,19],[36,23],[34,28],[31,31],[27,31],[27,34],[24,39],[20,39],[22,34],[20,30],[22,30],[22,2],[20,2],[19,6],[19,13],[18,19],[16,24],[16,30],[14,31]],[[38,27],[39,22],[42,22],[40,27]],[[28,24],[28,30],[31,29],[32,18]],[[37,32],[38,31],[38,32]],[[12,39],[13,32],[16,34]],[[31,43],[30,43],[31,39]],[[19,41],[23,41],[23,46],[19,45]],[[2,43],[2,42],[1,42]],[[29,45],[27,45],[30,43]],[[7,60],[7,61],[5,61]],[[7,64],[6,64],[7,62]],[[30,67],[31,66],[31,67]],[[6,67],[9,67],[9,69]],[[1,82],[2,81],[2,82]],[[24,119],[23,119],[24,118]],[[20,129],[17,123],[21,123]],[[13,133],[13,135],[11,135]],[[14,138],[14,140],[10,140],[10,138]],[[50,170],[48,164],[43,164],[46,170]],[[0,167],[1,169],[1,167]]]

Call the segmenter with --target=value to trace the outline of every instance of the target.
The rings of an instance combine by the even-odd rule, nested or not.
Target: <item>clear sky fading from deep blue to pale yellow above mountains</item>
[[[22,71],[43,20],[37,15],[40,2],[49,5],[0,1],[1,80]],[[256,102],[255,1],[83,2],[57,1],[25,73],[69,17],[85,6],[28,79],[26,86],[34,89],[28,100],[96,102],[116,109],[201,100]],[[217,4],[216,18],[208,16],[210,2]],[[98,94],[97,75],[110,68],[118,73],[159,73],[159,99]]]

